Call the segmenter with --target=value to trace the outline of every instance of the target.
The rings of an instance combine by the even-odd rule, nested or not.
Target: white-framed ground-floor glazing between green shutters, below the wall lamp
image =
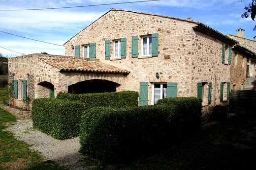
[[[159,99],[167,97],[167,83],[154,83],[152,86],[152,104],[156,104]]]

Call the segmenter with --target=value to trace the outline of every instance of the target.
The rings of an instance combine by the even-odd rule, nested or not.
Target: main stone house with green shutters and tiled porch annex
[[[20,81],[22,93],[32,75],[34,98],[51,91],[133,90],[139,105],[147,105],[164,97],[199,97],[207,116],[214,106],[228,104],[235,44],[190,19],[111,9],[64,44],[66,56],[10,58],[10,80]]]

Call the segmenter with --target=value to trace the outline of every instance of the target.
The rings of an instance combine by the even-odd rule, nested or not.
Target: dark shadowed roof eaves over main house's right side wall
[[[226,35],[224,35],[223,33],[211,28],[210,26],[207,26],[203,23],[198,24],[197,26],[194,26],[193,29],[203,32],[207,35],[210,35],[212,37],[215,37],[221,41],[223,41],[224,43],[228,44],[228,45],[235,45],[238,44],[237,41],[227,37]]]

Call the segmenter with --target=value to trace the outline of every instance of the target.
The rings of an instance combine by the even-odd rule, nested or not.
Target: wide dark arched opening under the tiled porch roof
[[[81,81],[68,86],[68,93],[70,94],[84,94],[84,93],[104,93],[116,92],[116,88],[120,86],[113,81],[92,79]]]

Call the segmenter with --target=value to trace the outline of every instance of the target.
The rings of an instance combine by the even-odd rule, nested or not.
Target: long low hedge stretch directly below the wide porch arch
[[[81,101],[88,107],[131,107],[138,106],[138,92],[122,91],[122,92],[107,92],[107,93],[89,93],[89,94],[68,94],[59,93],[58,99],[70,101]]]

